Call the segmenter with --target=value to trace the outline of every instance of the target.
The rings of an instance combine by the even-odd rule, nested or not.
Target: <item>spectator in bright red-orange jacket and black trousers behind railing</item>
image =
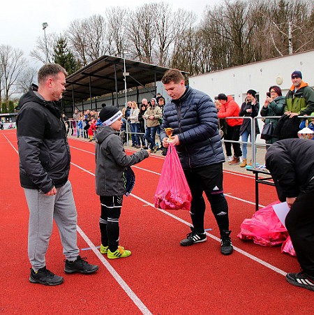
[[[239,105],[234,101],[232,96],[221,93],[218,95],[218,101],[221,104],[218,112],[218,118],[225,117],[239,117]],[[227,133],[225,134],[225,140],[239,141],[240,138],[240,126],[243,119],[232,118],[225,119],[227,122]],[[233,159],[231,145],[233,147]],[[228,163],[230,165],[242,163],[242,152],[239,142],[225,142],[225,151],[227,153]]]

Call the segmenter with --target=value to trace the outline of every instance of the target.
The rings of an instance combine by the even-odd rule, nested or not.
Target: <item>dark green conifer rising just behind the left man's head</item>
[[[75,59],[73,52],[68,49],[66,38],[59,36],[54,46],[54,63],[63,66],[70,75],[80,69],[80,62]]]

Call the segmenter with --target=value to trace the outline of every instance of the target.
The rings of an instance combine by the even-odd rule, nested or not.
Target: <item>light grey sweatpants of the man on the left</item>
[[[77,248],[77,212],[70,182],[57,188],[57,194],[46,196],[38,189],[26,189],[24,193],[29,206],[29,261],[33,270],[45,267],[45,254],[52,235],[53,220],[56,222],[63,254],[75,261]]]

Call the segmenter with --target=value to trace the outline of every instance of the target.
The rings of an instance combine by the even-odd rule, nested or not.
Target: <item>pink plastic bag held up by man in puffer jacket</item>
[[[177,150],[170,143],[155,193],[155,207],[189,210],[192,195]]]

